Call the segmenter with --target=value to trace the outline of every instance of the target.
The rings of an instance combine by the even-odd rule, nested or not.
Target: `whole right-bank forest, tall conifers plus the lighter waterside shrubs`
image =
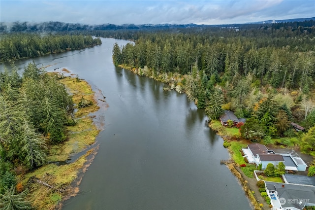
[[[278,26],[137,34],[114,45],[113,62],[185,92],[211,120],[224,109],[247,118],[246,139],[294,137],[290,122],[315,126],[315,26]],[[311,139],[302,149],[315,149]]]

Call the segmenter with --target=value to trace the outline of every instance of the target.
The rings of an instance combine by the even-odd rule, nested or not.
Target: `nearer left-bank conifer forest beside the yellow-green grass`
[[[22,77],[14,66],[1,72],[0,82],[0,208],[31,209],[16,175],[46,164],[49,145],[66,140],[73,103],[57,75],[34,63]]]

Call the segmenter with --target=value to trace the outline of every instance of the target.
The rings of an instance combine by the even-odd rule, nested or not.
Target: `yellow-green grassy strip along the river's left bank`
[[[65,77],[60,81],[72,95],[77,124],[66,128],[68,131],[67,140],[49,148],[48,161],[57,164],[47,164],[19,177],[22,186],[28,186],[30,189],[28,200],[38,210],[58,209],[64,198],[75,194],[78,191],[76,186],[80,183],[79,173],[86,171],[97,152],[97,147],[92,148],[75,162],[60,165],[72,155],[93,144],[99,133],[93,123],[93,116],[89,115],[99,108],[91,86],[85,80],[74,77]],[[78,103],[82,97],[92,101],[93,105],[79,108]],[[76,183],[71,186],[73,181]]]

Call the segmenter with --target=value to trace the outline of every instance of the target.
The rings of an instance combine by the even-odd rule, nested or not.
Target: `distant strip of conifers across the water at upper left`
[[[101,44],[92,35],[40,35],[33,33],[13,33],[1,35],[1,62],[21,58],[33,58],[67,50],[82,49]]]

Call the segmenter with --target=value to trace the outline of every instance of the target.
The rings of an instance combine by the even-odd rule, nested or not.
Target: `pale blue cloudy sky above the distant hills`
[[[315,17],[315,0],[0,0],[0,22],[238,24]]]

